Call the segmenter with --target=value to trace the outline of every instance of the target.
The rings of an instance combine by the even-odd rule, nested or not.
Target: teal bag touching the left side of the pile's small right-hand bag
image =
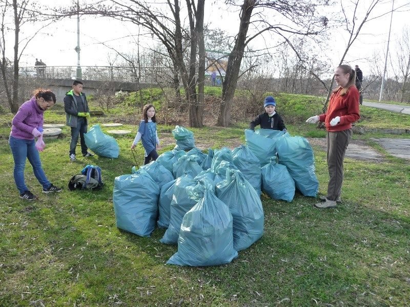
[[[260,196],[262,173],[260,172],[260,162],[255,154],[245,145],[240,145],[232,150],[232,157],[235,166],[242,172],[246,180],[252,185],[256,193]]]

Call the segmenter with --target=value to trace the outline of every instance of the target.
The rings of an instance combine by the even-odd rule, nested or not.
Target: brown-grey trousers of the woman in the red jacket
[[[352,129],[326,134],[327,168],[329,169],[326,198],[330,201],[336,201],[340,196],[343,182],[343,159],[351,138]]]

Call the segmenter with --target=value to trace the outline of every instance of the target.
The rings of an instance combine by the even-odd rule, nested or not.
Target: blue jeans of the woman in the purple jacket
[[[20,194],[28,190],[24,181],[26,158],[29,159],[33,167],[35,178],[43,185],[43,188],[47,189],[51,184],[42,168],[42,162],[38,150],[35,148],[34,140],[16,139],[10,136],[9,145],[14,159],[14,181]]]

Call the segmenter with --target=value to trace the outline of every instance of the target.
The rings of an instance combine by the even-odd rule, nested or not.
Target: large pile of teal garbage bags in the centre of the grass
[[[316,196],[313,150],[287,132],[245,130],[245,145],[230,150],[195,147],[192,131],[176,126],[173,150],[115,178],[118,228],[150,236],[166,228],[163,244],[178,246],[167,264],[216,266],[238,257],[263,234],[262,191],[292,202],[295,190]]]

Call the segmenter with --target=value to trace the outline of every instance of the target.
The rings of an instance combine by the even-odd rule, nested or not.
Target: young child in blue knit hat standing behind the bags
[[[260,125],[262,129],[287,131],[282,118],[275,111],[275,98],[272,96],[267,96],[263,103],[263,107],[265,108],[265,112],[263,114],[259,114],[253,121],[251,121],[249,128],[255,131],[255,127]]]

